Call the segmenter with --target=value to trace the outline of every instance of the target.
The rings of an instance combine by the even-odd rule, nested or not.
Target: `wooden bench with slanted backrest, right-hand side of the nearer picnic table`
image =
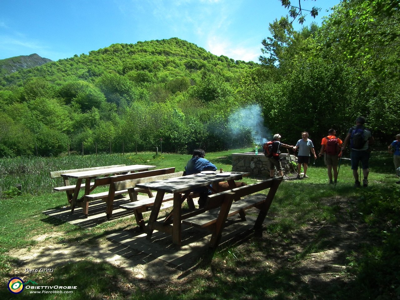
[[[260,212],[254,224],[254,229],[261,230],[262,223],[264,222],[282,179],[282,176],[280,176],[210,195],[203,209],[204,212],[182,220],[182,223],[211,230],[210,248],[215,248],[218,246],[221,239],[226,218],[242,212],[241,218],[242,220],[246,220],[243,212],[249,208],[256,207]],[[254,194],[267,188],[270,189],[267,195]]]

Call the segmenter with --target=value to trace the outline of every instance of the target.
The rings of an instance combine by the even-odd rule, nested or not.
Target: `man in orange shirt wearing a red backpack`
[[[342,148],[343,142],[340,138],[336,138],[336,131],[334,129],[330,129],[328,131],[328,136],[322,139],[321,142],[321,151],[318,156],[322,156],[324,154],[324,162],[328,167],[328,177],[329,183],[334,184],[336,180],[338,180],[338,157],[340,157],[340,148]],[[334,180],[332,180],[332,167],[333,167],[333,176]]]

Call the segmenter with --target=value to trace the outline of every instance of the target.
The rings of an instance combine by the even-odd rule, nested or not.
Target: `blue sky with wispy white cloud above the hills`
[[[292,4],[296,3],[292,0]],[[322,8],[340,0],[301,0]],[[216,55],[258,62],[268,26],[288,14],[279,0],[1,0],[0,59],[58,60],[115,43],[178,37]],[[297,2],[298,3],[298,2]],[[300,25],[296,23],[296,29]]]

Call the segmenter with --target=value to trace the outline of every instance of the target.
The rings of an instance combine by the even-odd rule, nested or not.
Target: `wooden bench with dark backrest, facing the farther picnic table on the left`
[[[88,195],[83,196],[82,198],[80,198],[79,201],[71,204],[71,213],[74,213],[75,206],[78,206],[78,207],[82,207],[84,209],[83,213],[87,217],[89,202],[92,200],[102,199],[107,203],[106,214],[107,214],[107,218],[109,219],[109,218],[111,218],[111,215],[112,215],[112,204],[114,203],[115,196],[120,195],[120,194],[125,194],[128,192],[128,190],[126,190],[126,189],[115,190],[115,186],[114,186],[115,182],[120,182],[120,181],[124,181],[124,180],[129,180],[129,179],[146,178],[146,177],[152,177],[152,176],[164,175],[164,174],[173,174],[174,172],[175,172],[175,168],[164,168],[164,169],[158,169],[158,170],[143,171],[143,172],[136,172],[136,173],[130,173],[130,174],[122,174],[122,175],[114,175],[114,176],[95,178],[93,186],[90,188],[90,192],[97,186],[106,186],[106,185],[109,186],[108,192],[100,192],[100,193],[96,193],[96,194],[88,194]],[[137,188],[134,191],[135,197],[138,192],[145,192],[149,195],[149,197],[153,196],[153,194],[150,190],[144,190],[144,189]]]

